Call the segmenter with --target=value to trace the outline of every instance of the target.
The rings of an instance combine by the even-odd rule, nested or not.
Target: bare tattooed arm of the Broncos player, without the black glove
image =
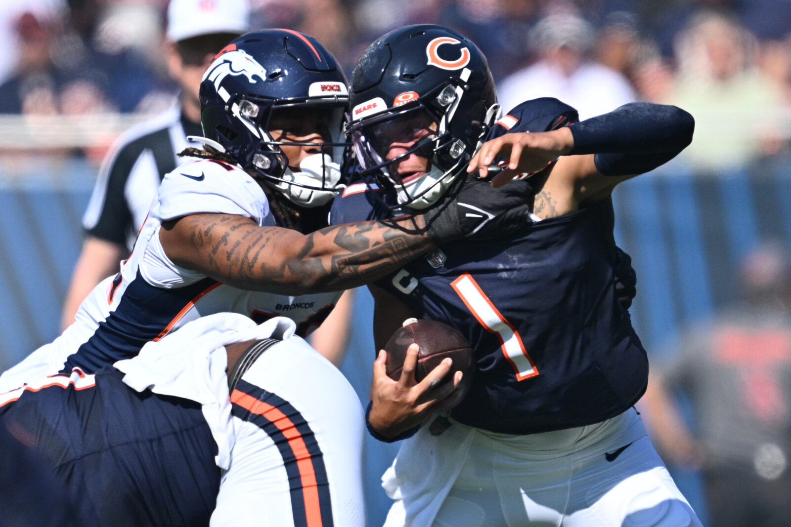
[[[420,216],[303,235],[244,216],[193,214],[165,222],[160,240],[176,265],[237,288],[286,295],[367,284],[434,247]]]

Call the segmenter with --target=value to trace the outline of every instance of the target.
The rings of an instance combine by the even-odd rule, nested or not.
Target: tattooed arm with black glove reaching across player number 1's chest
[[[524,228],[529,207],[522,185],[496,189],[467,180],[422,215],[339,224],[308,235],[260,227],[246,216],[191,214],[165,221],[159,239],[176,265],[237,288],[284,295],[337,291],[377,280],[437,243]],[[471,208],[479,213],[468,214]]]

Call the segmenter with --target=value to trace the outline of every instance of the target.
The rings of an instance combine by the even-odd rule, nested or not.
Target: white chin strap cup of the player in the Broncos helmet
[[[300,163],[300,171],[286,168],[281,179],[278,182],[267,179],[267,183],[296,205],[307,208],[325,205],[346,187],[340,183],[340,165],[321,153],[306,156]]]

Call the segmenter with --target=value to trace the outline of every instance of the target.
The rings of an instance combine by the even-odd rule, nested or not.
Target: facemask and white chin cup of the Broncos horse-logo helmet
[[[301,207],[325,205],[345,185],[340,161],[347,144],[342,141],[346,101],[272,101],[243,96],[238,118],[261,138],[252,152],[252,168],[268,186]],[[295,139],[296,137],[296,139]],[[305,138],[305,141],[298,139]],[[315,152],[301,159],[299,167],[287,152],[301,155],[305,147]]]

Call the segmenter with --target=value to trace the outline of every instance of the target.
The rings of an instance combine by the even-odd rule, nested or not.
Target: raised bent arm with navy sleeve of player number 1
[[[692,141],[694,119],[679,107],[630,103],[604,115],[558,130],[504,134],[486,141],[467,171],[482,176],[505,157],[509,164],[492,180],[501,186],[513,177],[543,171],[552,161],[551,193],[562,213],[610,194],[616,184],[659,167]]]

